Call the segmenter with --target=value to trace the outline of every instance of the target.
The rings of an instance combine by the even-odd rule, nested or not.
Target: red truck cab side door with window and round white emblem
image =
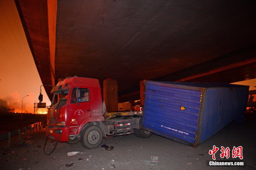
[[[69,127],[79,126],[80,122],[91,117],[91,102],[89,88],[79,88],[79,97],[77,97],[77,88],[73,88],[69,105]]]

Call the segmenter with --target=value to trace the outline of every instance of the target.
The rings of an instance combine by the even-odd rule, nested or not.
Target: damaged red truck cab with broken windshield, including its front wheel
[[[68,142],[80,137],[84,147],[98,147],[105,136],[99,81],[69,77],[57,83],[51,93],[54,97],[47,114],[48,138]]]

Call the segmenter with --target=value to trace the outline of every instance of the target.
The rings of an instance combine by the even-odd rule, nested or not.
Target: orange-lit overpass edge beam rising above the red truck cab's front
[[[54,85],[57,0],[15,0],[15,4],[42,83]],[[45,88],[49,97],[51,89]]]

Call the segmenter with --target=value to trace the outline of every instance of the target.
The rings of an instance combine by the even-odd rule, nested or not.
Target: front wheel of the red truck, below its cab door
[[[97,148],[102,142],[102,131],[99,126],[87,126],[81,131],[81,144],[87,149]]]

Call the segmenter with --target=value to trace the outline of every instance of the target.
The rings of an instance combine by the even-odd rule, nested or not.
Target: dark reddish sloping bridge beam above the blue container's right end
[[[234,52],[227,53],[225,55],[213,58],[211,60],[205,61],[203,63],[199,63],[197,65],[193,65],[192,67],[188,67],[182,69],[177,72],[170,73],[168,75],[162,76],[161,78],[155,79],[156,81],[170,81],[170,82],[223,82],[223,79],[212,79],[210,75],[214,75],[216,73],[221,73],[225,75],[225,72],[230,72],[232,69],[235,70],[240,69],[241,72],[248,72],[249,79],[256,78],[255,69],[253,65],[255,65],[255,57],[256,57],[256,45],[248,46],[246,48],[242,48],[236,50]],[[248,69],[249,70],[248,70]],[[209,76],[207,76],[209,75]],[[219,75],[221,76],[221,75]],[[232,75],[230,75],[232,76]],[[233,83],[246,79],[245,77],[233,77],[229,80],[225,79],[225,83]]]

